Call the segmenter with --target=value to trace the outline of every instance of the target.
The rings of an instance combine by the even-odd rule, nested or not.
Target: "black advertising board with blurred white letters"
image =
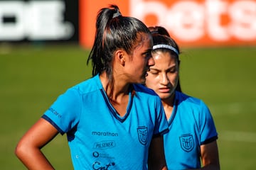
[[[0,42],[78,42],[78,1],[0,0]]]

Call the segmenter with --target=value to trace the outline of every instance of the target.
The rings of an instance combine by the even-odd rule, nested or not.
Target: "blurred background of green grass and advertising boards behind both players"
[[[26,169],[20,137],[70,86],[91,77],[87,56],[97,11],[164,26],[181,48],[181,88],[210,108],[222,169],[255,169],[256,0],[0,0],[0,164]],[[43,148],[55,169],[73,169],[66,136]]]

